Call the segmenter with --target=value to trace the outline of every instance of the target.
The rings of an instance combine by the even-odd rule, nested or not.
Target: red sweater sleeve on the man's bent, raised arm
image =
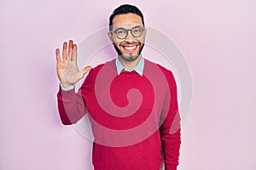
[[[75,93],[75,88],[63,90],[60,86],[57,102],[61,122],[64,125],[74,124],[86,114],[84,98],[90,93],[91,77],[92,73],[90,71],[77,93]]]

